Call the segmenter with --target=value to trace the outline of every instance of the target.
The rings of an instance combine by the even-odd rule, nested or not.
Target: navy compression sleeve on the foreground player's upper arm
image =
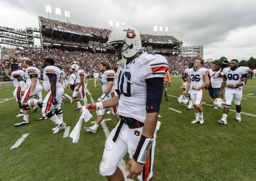
[[[146,79],[147,83],[147,100],[146,110],[150,112],[159,112],[160,104],[163,96],[164,79],[150,78]]]

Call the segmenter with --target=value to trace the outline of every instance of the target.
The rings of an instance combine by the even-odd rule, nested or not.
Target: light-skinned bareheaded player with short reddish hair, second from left
[[[27,89],[22,91],[22,94],[24,94],[22,98],[22,105],[23,105],[23,120],[20,123],[15,124],[14,126],[22,126],[29,124],[29,105],[28,105],[28,99],[29,97],[33,97],[34,94],[36,94],[39,97],[38,106],[41,108],[43,107],[42,102],[42,86],[39,83],[39,79],[41,77],[41,72],[36,68],[33,67],[33,61],[32,60],[25,60],[25,78],[26,78],[26,86]],[[42,111],[42,117],[37,119],[39,120],[46,120],[46,116],[44,112]]]

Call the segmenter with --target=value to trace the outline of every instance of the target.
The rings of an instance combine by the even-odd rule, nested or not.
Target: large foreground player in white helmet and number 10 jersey
[[[156,144],[156,124],[163,95],[163,79],[168,63],[164,56],[151,52],[139,55],[139,32],[129,26],[113,29],[107,41],[113,48],[108,55],[117,62],[119,96],[96,104],[87,104],[90,112],[118,105],[121,120],[109,134],[100,163],[100,174],[108,180],[124,180],[118,164],[129,153],[125,168],[127,178],[154,180],[153,161]]]

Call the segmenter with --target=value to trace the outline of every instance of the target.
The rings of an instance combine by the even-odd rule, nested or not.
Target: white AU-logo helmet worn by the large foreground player
[[[121,48],[115,50],[114,47],[118,44],[121,45]],[[125,57],[135,55],[141,46],[140,34],[135,28],[126,25],[118,26],[110,32],[108,37],[107,47],[113,49],[113,52],[108,54],[108,59],[111,64],[117,62],[119,66],[124,67],[126,64]],[[117,51],[119,51],[122,59],[120,59],[121,56],[116,58]]]

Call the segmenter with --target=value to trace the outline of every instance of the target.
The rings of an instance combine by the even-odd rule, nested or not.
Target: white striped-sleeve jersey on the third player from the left
[[[61,70],[54,65],[48,65],[43,70],[43,88],[45,91],[49,92],[51,90],[51,83],[47,74],[56,74],[57,76],[56,88],[62,87],[62,85],[60,84]]]

